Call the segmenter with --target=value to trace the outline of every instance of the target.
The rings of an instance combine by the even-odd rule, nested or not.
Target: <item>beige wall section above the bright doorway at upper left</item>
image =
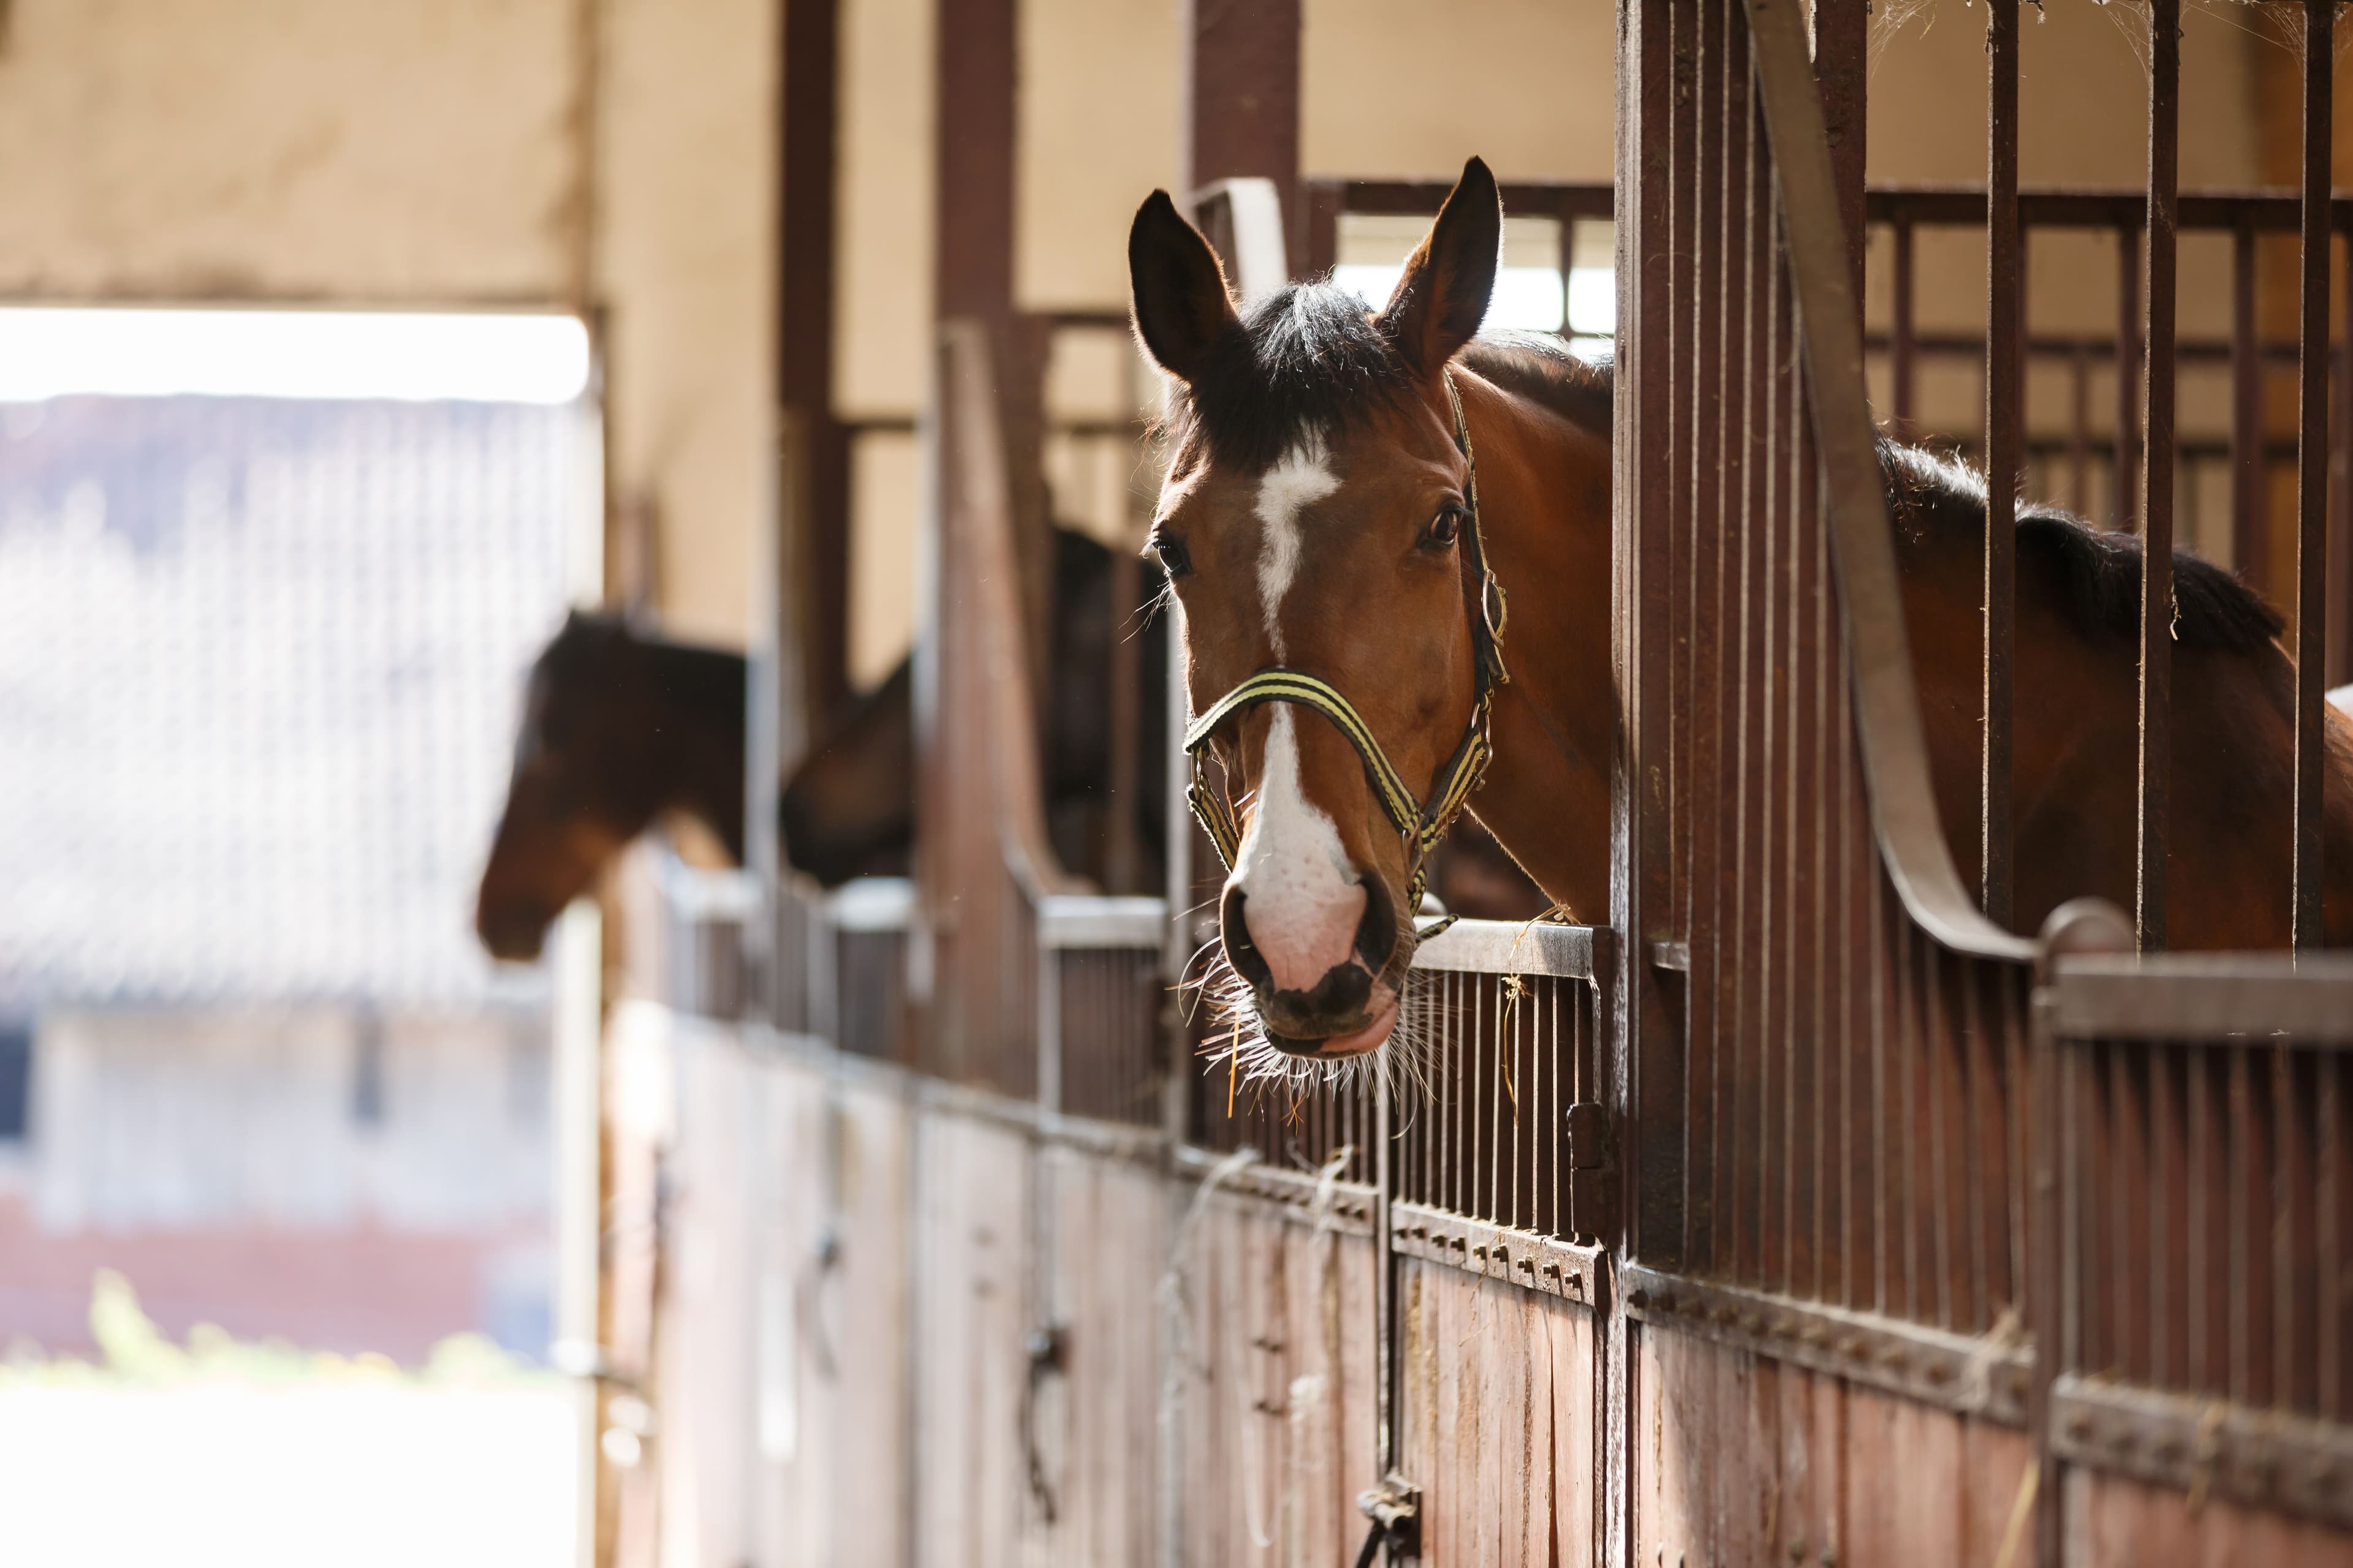
[[[14,0],[0,294],[553,301],[574,0]]]

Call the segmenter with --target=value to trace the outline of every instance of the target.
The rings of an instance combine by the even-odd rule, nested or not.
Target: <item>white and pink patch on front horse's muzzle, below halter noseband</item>
[[[1325,971],[1348,961],[1365,917],[1365,889],[1341,849],[1339,827],[1299,790],[1299,733],[1287,703],[1266,731],[1249,832],[1233,856],[1249,940],[1273,971],[1275,990],[1313,990]]]

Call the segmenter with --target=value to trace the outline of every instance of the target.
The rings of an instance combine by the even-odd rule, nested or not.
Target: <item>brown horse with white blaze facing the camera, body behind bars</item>
[[[1464,169],[1388,303],[1294,284],[1240,317],[1165,193],[1136,214],[1136,336],[1169,378],[1167,571],[1193,712],[1268,668],[1320,677],[1419,799],[1473,726],[1485,567],[1511,590],[1478,818],[1577,919],[1609,907],[1609,374],[1551,339],[1478,339],[1501,205]],[[1452,381],[1452,390],[1449,390]],[[1452,397],[1459,397],[1457,416]],[[1478,456],[1475,527],[1471,461]],[[1939,804],[1974,865],[1984,484],[1885,447]],[[2026,508],[2017,588],[2017,914],[2132,893],[2139,543]],[[2177,557],[2172,931],[2287,940],[2289,691],[2280,621]],[[1414,950],[1414,865],[1332,710],[1242,705],[1205,741],[1233,802],[1224,952],[1273,1046],[1381,1046]],[[2353,936],[2353,733],[2332,717],[2327,929]],[[1214,788],[1214,780],[1209,780]]]

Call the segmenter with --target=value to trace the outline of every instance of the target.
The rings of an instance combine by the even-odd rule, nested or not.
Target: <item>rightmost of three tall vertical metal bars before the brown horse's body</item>
[[[2320,947],[2327,759],[2329,73],[2334,0],[2304,0],[2304,320],[2297,343],[2297,891],[2294,945]]]

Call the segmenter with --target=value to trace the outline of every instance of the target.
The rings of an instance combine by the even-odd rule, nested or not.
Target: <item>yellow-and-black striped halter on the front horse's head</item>
[[[1454,444],[1464,454],[1468,475],[1464,477],[1464,501],[1468,503],[1471,522],[1464,531],[1464,559],[1471,567],[1475,588],[1475,599],[1471,604],[1471,656],[1473,656],[1473,703],[1471,724],[1464,726],[1464,738],[1454,745],[1454,755],[1442,769],[1438,769],[1438,780],[1426,802],[1414,799],[1412,788],[1405,776],[1391,764],[1388,752],[1374,738],[1372,726],[1365,717],[1339,693],[1332,682],[1308,675],[1306,670],[1287,670],[1282,665],[1268,665],[1257,675],[1247,677],[1226,696],[1217,698],[1209,712],[1193,719],[1193,726],[1184,731],[1184,750],[1193,759],[1193,783],[1186,790],[1186,799],[1193,806],[1193,816],[1200,818],[1202,832],[1209,835],[1209,844],[1217,846],[1217,858],[1233,870],[1233,858],[1242,846],[1242,830],[1233,818],[1233,806],[1226,802],[1224,790],[1212,788],[1202,752],[1217,729],[1233,715],[1257,708],[1259,703],[1297,703],[1299,708],[1313,708],[1325,719],[1348,738],[1355,755],[1365,759],[1365,778],[1372,783],[1374,799],[1381,802],[1381,811],[1395,823],[1398,832],[1405,835],[1407,860],[1412,867],[1412,882],[1405,893],[1409,910],[1421,907],[1421,884],[1426,875],[1426,860],[1438,839],[1447,835],[1447,827],[1461,813],[1464,802],[1471,790],[1478,788],[1480,776],[1487,771],[1489,743],[1487,743],[1487,719],[1494,708],[1494,689],[1511,679],[1504,670],[1504,585],[1494,581],[1494,569],[1487,564],[1487,543],[1480,538],[1478,527],[1478,458],[1471,454],[1471,425],[1464,423],[1464,400],[1454,390],[1454,374],[1445,374],[1447,407],[1454,411]],[[1414,931],[1417,940],[1428,940],[1454,924],[1454,917]]]

